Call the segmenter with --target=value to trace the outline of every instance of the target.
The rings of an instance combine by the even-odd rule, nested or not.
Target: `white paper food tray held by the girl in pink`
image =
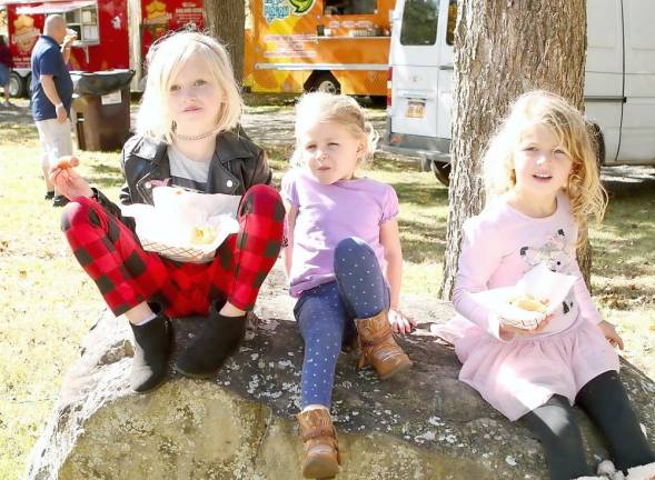
[[[576,280],[574,276],[553,272],[545,263],[539,263],[514,287],[485,290],[473,296],[483,307],[502,317],[504,323],[533,330],[540,320],[559,308]],[[537,300],[547,300],[546,311],[527,311],[510,303],[513,299],[526,294]]]

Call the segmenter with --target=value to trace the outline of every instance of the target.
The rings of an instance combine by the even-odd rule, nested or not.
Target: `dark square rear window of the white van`
[[[429,46],[437,40],[439,0],[407,0],[403,11],[400,44]]]

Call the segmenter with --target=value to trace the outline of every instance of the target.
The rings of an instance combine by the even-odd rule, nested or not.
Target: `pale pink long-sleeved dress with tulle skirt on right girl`
[[[463,363],[459,380],[510,420],[555,394],[574,403],[594,377],[618,371],[618,357],[597,327],[593,304],[575,257],[577,227],[565,193],[550,217],[526,217],[498,198],[464,226],[464,242],[453,303],[459,313],[437,330],[455,344]],[[505,341],[498,318],[472,293],[514,286],[540,262],[578,277],[543,333]]]

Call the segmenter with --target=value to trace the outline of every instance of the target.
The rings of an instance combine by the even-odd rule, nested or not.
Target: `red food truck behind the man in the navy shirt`
[[[205,27],[202,0],[0,0],[0,9],[7,10],[16,97],[29,91],[30,56],[48,14],[62,14],[77,32],[71,70],[129,68],[136,72],[132,90],[142,87],[142,62],[157,38],[189,23]]]

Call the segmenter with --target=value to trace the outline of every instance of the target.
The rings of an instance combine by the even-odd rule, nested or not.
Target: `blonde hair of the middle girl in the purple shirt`
[[[364,110],[351,97],[326,92],[305,93],[296,103],[296,149],[291,156],[291,164],[302,164],[302,151],[299,138],[308,126],[316,123],[337,123],[345,127],[353,137],[360,140],[364,154],[359,159],[361,167],[375,152],[378,134],[364,117]]]

